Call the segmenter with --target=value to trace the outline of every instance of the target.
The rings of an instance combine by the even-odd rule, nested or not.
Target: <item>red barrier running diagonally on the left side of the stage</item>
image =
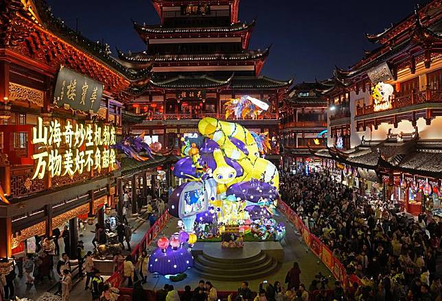
[[[146,250],[148,245],[150,245],[150,243],[152,243],[152,241],[154,241],[154,239],[158,236],[159,232],[163,230],[164,226],[167,224],[167,221],[169,221],[170,217],[171,215],[167,213],[167,211],[163,213],[163,215],[161,215],[161,217],[159,217],[159,219],[155,221],[155,224],[152,227],[150,227],[148,232],[144,234],[143,239],[141,239],[141,241],[137,245],[135,245],[135,248],[133,248],[132,253],[130,253],[132,255],[134,263],[138,261],[138,257],[140,256],[141,252],[143,252],[143,250]],[[112,285],[112,287],[119,287],[121,285],[121,280],[123,280],[121,275],[121,269],[122,269],[122,264],[117,269],[117,271],[114,272],[108,278],[107,282],[109,282],[110,285]]]

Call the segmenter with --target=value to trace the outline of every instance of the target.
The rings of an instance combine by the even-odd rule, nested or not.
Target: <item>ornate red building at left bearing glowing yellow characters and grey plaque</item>
[[[150,70],[124,67],[42,1],[0,7],[0,258],[67,222],[75,258],[77,217],[103,223],[121,195],[110,145],[130,87]]]

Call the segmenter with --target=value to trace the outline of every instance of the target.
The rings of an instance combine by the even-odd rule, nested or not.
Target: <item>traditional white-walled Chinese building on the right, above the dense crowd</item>
[[[384,192],[412,213],[442,197],[441,1],[430,1],[380,34],[379,47],[323,82],[328,149],[336,178]],[[335,164],[336,163],[336,164]],[[377,189],[373,189],[377,188]]]

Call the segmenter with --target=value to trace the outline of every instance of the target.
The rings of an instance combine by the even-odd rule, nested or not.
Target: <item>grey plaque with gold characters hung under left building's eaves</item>
[[[62,67],[58,71],[54,104],[69,104],[73,110],[97,112],[100,109],[103,85],[89,77]]]

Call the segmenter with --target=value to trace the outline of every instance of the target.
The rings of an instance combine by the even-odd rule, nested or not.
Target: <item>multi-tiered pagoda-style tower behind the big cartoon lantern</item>
[[[224,120],[226,102],[249,95],[268,101],[270,109],[259,120],[239,122],[277,139],[278,103],[292,81],[260,75],[269,48],[248,49],[255,21],[238,21],[239,1],[152,3],[161,23],[134,23],[146,50],[119,51],[121,64],[152,66],[154,73],[148,84],[133,89],[138,96],[128,110],[146,117],[132,125],[132,134],[146,132],[168,149],[176,148],[181,136],[196,135],[202,117]]]

